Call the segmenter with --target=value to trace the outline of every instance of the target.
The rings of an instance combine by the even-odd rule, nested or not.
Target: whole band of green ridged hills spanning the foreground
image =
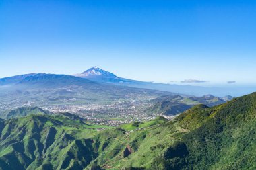
[[[69,114],[1,120],[0,169],[256,169],[256,93],[97,128]]]

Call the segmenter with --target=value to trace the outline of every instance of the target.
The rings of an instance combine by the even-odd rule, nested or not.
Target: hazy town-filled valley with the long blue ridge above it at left
[[[71,112],[99,124],[114,126],[151,119],[152,116],[141,114],[150,107],[148,101],[166,93],[172,94],[104,85],[68,75],[36,74],[3,80],[0,79],[4,82],[0,86],[0,113],[38,106],[50,112]]]

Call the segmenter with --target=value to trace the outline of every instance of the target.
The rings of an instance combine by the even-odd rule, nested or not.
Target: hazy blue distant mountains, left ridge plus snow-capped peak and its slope
[[[84,79],[78,79],[79,77]],[[174,85],[164,83],[152,83],[145,81],[137,81],[132,79],[125,79],[117,75],[104,71],[99,67],[92,67],[83,73],[70,75],[55,75],[45,73],[31,73],[26,75],[18,75],[13,77],[5,77],[0,79],[0,87],[4,85],[14,85],[22,87],[22,85],[36,85],[44,87],[60,87],[63,85],[96,85],[96,83],[104,83],[106,85],[118,85],[127,87],[136,87],[141,89],[153,89],[158,91],[168,91],[171,93],[183,95],[202,96],[205,94],[212,94],[215,96],[226,96],[234,93],[234,89],[220,88],[220,87],[201,87],[192,85]],[[236,90],[237,91],[237,90]]]

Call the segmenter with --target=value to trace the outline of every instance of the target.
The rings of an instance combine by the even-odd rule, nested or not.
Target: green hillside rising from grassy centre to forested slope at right
[[[105,169],[255,169],[255,130],[253,93],[213,108],[197,105],[160,126],[99,140],[94,164]]]

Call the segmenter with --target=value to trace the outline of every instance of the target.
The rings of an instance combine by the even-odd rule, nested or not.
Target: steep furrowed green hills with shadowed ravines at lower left
[[[70,114],[0,121],[0,169],[84,169],[96,158],[96,128]]]

